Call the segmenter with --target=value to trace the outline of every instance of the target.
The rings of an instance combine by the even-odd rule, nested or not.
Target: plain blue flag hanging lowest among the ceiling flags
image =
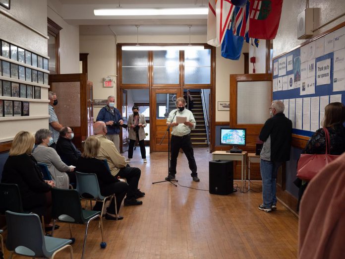
[[[239,60],[243,41],[243,37],[233,35],[232,30],[227,30],[222,43],[222,57],[230,60]]]

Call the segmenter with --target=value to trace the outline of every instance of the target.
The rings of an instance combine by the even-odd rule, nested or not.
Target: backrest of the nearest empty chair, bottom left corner
[[[16,254],[30,257],[47,257],[41,221],[36,214],[6,211],[6,248]]]

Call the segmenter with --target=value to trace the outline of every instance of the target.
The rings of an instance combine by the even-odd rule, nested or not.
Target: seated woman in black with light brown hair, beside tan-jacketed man
[[[124,196],[127,193],[128,185],[120,182],[117,177],[111,175],[103,161],[96,158],[101,147],[101,142],[95,136],[89,136],[84,143],[84,152],[76,163],[76,172],[96,174],[101,194],[109,196],[115,194],[117,213]],[[97,201],[93,210],[102,210],[102,202]],[[116,219],[114,199],[107,208],[106,219]],[[119,216],[117,219],[123,219]]]

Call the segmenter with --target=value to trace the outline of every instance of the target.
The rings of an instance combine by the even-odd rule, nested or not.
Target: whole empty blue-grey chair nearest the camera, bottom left
[[[40,218],[37,214],[6,211],[7,240],[6,248],[13,254],[31,258],[54,258],[65,248],[69,248],[73,259],[73,249],[69,239],[47,237],[43,235]]]

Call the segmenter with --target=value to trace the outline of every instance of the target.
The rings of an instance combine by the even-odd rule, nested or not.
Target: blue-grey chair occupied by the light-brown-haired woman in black
[[[104,211],[104,204],[106,200],[110,198],[115,200],[115,214],[117,219],[117,209],[116,209],[116,198],[115,194],[109,195],[107,197],[101,194],[100,186],[98,184],[96,174],[84,174],[80,172],[75,172],[75,176],[77,177],[77,191],[81,198],[90,200],[90,209],[92,210],[92,200],[95,201],[102,201],[102,211],[101,215],[103,215]]]

